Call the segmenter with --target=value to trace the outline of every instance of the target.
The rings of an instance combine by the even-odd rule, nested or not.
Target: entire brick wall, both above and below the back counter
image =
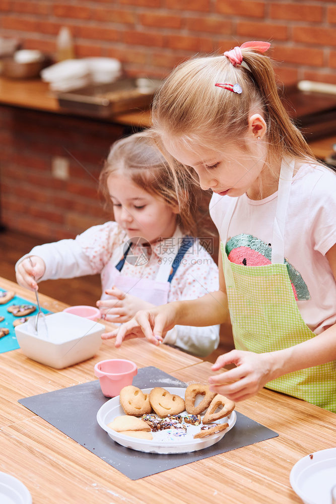
[[[261,39],[272,42],[286,84],[336,83],[335,25],[336,5],[319,0],[0,0],[0,36],[53,55],[68,26],[78,57],[116,57],[128,75],[150,77],[195,53]],[[0,107],[1,222],[50,241],[103,222],[96,179],[123,134],[107,122]],[[54,156],[69,159],[68,180],[52,177]]]

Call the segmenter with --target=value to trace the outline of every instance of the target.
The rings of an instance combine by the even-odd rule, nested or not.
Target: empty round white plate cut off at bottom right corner
[[[305,504],[331,504],[336,485],[336,448],[311,453],[292,468],[290,482]]]

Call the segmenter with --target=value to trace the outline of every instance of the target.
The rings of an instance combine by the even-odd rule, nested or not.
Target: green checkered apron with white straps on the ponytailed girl
[[[313,338],[303,321],[284,264],[284,230],[294,162],[281,166],[272,263],[244,266],[231,263],[221,242],[235,347],[256,353],[288,348]],[[237,199],[238,200],[238,199]],[[237,200],[226,213],[222,238],[228,229]],[[266,387],[283,392],[336,413],[336,361],[294,371],[272,380]]]

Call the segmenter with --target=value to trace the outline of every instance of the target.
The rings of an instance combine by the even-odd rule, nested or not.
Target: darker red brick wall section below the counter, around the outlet
[[[123,134],[111,123],[0,107],[1,222],[53,241],[108,220],[98,177],[111,143]],[[55,156],[69,160],[68,180],[52,176]]]

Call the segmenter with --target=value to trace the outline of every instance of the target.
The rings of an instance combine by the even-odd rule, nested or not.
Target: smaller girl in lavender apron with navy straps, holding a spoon
[[[100,175],[114,221],[74,240],[34,247],[16,265],[18,283],[38,289],[37,280],[100,273],[97,306],[114,323],[130,320],[141,309],[216,290],[218,268],[191,236],[200,219],[196,187],[186,176],[179,202],[176,181],[146,132],[115,142]],[[164,342],[208,355],[218,346],[219,326],[175,326]]]

